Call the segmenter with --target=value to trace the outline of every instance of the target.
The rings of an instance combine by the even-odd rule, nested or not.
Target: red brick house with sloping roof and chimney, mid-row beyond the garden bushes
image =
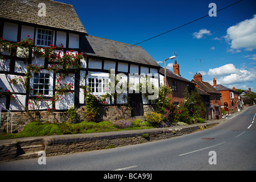
[[[219,119],[221,115],[221,93],[218,92],[208,82],[203,81],[203,76],[199,73],[194,75],[192,82],[196,84],[197,93],[202,97],[205,104],[205,118]]]

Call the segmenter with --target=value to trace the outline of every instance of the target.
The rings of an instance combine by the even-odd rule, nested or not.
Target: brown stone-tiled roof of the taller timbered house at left
[[[46,5],[46,16],[39,16],[39,3]],[[63,30],[87,33],[72,5],[52,0],[1,0],[0,17]]]

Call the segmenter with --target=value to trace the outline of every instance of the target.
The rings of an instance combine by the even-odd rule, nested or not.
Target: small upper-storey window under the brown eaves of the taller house
[[[53,31],[38,28],[37,44],[40,46],[50,46],[52,44]]]

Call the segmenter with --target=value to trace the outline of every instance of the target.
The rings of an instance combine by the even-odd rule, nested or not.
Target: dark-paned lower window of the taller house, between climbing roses
[[[35,73],[33,83],[33,94],[43,94],[43,96],[49,95],[50,88],[50,75],[49,73]]]

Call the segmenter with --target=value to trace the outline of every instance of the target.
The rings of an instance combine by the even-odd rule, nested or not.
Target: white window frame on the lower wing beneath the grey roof
[[[109,77],[88,76],[86,83],[90,86],[94,95],[103,95],[109,92]]]

